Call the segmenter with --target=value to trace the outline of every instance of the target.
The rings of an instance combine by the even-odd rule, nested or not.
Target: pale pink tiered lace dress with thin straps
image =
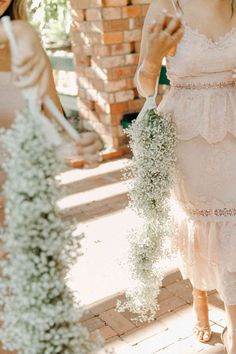
[[[167,58],[178,144],[174,246],[184,278],[236,304],[236,28],[217,42],[185,25]]]

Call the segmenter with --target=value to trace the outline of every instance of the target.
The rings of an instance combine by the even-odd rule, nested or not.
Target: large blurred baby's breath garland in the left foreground
[[[29,110],[1,134],[9,158],[5,227],[1,241],[0,340],[19,354],[97,353],[103,340],[80,324],[85,309],[66,285],[81,254],[82,235],[62,221],[57,209],[56,148]]]

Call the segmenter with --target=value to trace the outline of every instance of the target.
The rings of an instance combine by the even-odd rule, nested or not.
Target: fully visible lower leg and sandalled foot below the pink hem
[[[206,291],[193,290],[193,308],[197,317],[197,323],[193,331],[200,342],[206,343],[211,339],[211,328],[208,317],[208,296]]]

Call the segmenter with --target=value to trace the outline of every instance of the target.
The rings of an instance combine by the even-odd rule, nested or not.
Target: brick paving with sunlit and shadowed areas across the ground
[[[82,323],[92,336],[99,330],[105,338],[106,346],[99,354],[223,353],[220,334],[225,325],[225,314],[221,299],[215,291],[209,293],[213,337],[208,344],[202,344],[192,334],[191,284],[182,279],[175,265],[167,267],[155,321],[134,324],[131,313],[115,311],[116,301],[124,298],[123,290],[128,283],[120,264],[117,266],[114,262],[117,254],[125,257],[125,253],[119,251],[119,243],[123,242],[120,248],[126,248],[127,222],[129,224],[132,219],[126,209],[127,190],[120,182],[126,162],[127,159],[106,162],[92,170],[70,170],[61,176],[67,197],[59,206],[65,217],[76,217],[80,221],[78,228],[87,233],[82,245],[87,255],[85,252],[80,257],[70,280],[87,307]],[[132,222],[135,220],[134,217]],[[116,233],[117,229],[119,233]],[[103,244],[106,248],[101,251]],[[93,281],[89,281],[91,277]]]

